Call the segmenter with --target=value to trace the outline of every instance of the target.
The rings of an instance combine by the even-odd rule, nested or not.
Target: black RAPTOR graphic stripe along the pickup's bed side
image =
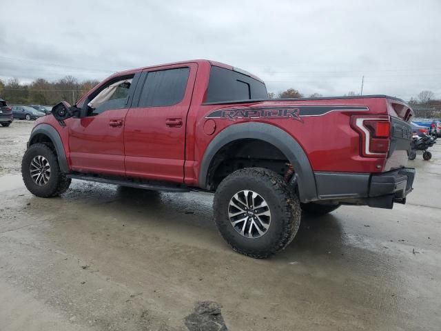
[[[214,110],[206,119],[295,119],[302,121],[305,116],[321,116],[328,112],[345,110],[369,110],[366,106],[269,106],[269,107],[234,107]]]

